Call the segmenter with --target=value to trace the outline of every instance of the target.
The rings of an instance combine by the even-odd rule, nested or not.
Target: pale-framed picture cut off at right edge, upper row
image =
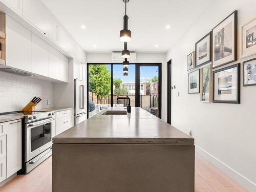
[[[256,54],[256,18],[241,27],[241,58]]]

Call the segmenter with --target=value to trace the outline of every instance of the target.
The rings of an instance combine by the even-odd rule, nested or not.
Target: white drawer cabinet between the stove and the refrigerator
[[[55,135],[70,129],[74,124],[73,119],[73,110],[57,112],[55,116]]]

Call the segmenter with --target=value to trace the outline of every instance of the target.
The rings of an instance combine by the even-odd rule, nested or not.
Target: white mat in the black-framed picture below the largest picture
[[[224,71],[220,71],[214,74],[214,100],[217,101],[236,101],[237,98],[237,67],[233,67]],[[231,89],[231,94],[218,94],[219,90],[219,78],[224,77],[227,75],[231,75],[232,79],[232,89]]]

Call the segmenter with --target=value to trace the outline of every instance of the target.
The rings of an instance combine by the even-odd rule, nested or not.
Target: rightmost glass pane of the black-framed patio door
[[[140,66],[140,107],[159,117],[158,66]]]

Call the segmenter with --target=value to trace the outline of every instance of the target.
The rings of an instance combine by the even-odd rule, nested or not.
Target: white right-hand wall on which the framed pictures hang
[[[166,61],[172,59],[177,88],[172,93],[172,124],[185,133],[192,130],[197,151],[249,191],[256,191],[256,86],[241,87],[241,104],[202,103],[200,94],[187,94],[186,55],[231,12],[238,10],[241,26],[256,18],[255,7],[255,0],[212,1],[166,54]]]

